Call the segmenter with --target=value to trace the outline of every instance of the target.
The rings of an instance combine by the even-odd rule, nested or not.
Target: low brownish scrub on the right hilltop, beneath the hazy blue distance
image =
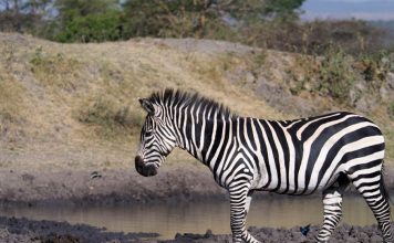
[[[287,52],[325,55],[341,49],[354,56],[386,49],[388,34],[359,20],[338,21],[257,21],[240,27],[239,42]]]

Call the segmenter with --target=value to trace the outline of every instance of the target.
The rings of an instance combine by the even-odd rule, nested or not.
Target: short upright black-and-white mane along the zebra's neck
[[[188,93],[183,91],[174,91],[173,88],[166,88],[163,92],[155,92],[149,97],[148,101],[153,104],[169,106],[195,106],[195,112],[199,107],[199,113],[196,115],[203,115],[203,110],[211,110],[211,114],[217,114],[217,118],[230,118],[236,116],[230,112],[227,106],[215,102],[214,99],[200,96],[198,93]]]

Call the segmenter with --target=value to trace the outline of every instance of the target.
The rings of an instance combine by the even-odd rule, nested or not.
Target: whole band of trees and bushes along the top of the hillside
[[[390,46],[388,33],[363,21],[301,22],[304,0],[2,0],[0,31],[60,42],[136,36],[199,38],[308,54]]]

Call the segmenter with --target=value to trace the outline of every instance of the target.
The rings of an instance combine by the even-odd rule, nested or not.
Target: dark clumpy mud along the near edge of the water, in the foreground
[[[319,228],[313,225],[307,236],[299,226],[292,229],[250,228],[250,232],[260,241],[270,242],[314,242]],[[351,226],[344,224],[336,229],[331,242],[382,242],[376,225]],[[149,242],[149,243],[211,243],[229,242],[230,235],[217,235],[210,230],[206,234],[176,234],[174,240],[156,241],[157,233],[107,232],[103,228],[86,224],[70,224],[54,221],[33,221],[0,216],[0,242]],[[145,239],[145,240],[144,240]],[[151,239],[151,240],[148,240]]]

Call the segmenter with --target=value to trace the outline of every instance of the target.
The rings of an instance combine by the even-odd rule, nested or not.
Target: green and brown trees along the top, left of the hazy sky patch
[[[132,36],[236,40],[271,20],[297,20],[304,0],[0,0],[0,31],[62,42]],[[255,32],[255,33],[253,33]],[[246,33],[243,31],[243,33]],[[256,39],[259,31],[249,31]]]

